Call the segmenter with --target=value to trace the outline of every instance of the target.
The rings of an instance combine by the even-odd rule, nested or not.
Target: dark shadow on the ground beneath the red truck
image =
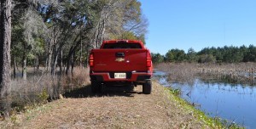
[[[81,87],[70,92],[62,94],[64,98],[95,98],[95,97],[134,97],[140,92],[133,91],[131,87],[103,87],[101,93],[92,93],[90,85]]]

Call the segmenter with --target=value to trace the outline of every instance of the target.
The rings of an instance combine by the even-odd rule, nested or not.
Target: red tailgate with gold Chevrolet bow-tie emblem
[[[95,72],[114,71],[147,71],[146,49],[95,49],[94,56]]]

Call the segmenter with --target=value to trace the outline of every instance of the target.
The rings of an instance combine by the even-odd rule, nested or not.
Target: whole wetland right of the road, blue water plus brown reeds
[[[255,63],[158,64],[155,76],[172,93],[207,115],[254,128]],[[160,72],[160,71],[164,72]]]

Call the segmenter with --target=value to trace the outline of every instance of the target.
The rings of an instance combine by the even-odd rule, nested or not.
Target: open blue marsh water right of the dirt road
[[[193,83],[167,81],[166,73],[156,70],[154,77],[166,87],[179,89],[181,97],[194,104],[207,115],[235,122],[246,128],[256,128],[256,87],[231,84],[222,81],[202,81],[196,77]]]

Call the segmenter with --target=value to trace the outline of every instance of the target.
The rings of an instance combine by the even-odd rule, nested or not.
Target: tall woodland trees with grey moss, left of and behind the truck
[[[72,76],[103,40],[145,42],[147,31],[138,0],[1,0],[0,111],[9,110],[11,68],[15,77],[21,67],[24,80],[28,66],[36,72],[43,66],[48,76]]]

